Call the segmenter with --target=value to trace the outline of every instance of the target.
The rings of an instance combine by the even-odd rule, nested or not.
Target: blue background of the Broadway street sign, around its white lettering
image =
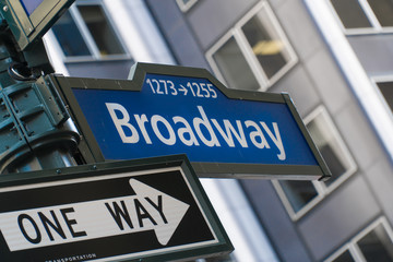
[[[166,83],[167,88],[164,88],[164,83]],[[196,90],[191,91],[191,83],[196,83],[193,87],[201,86],[201,84],[204,84],[206,87],[210,84],[211,88],[205,88],[204,92],[200,91],[198,93]],[[147,74],[140,92],[73,88],[73,93],[106,159],[135,159],[187,154],[191,162],[202,163],[318,165],[286,104],[229,99],[211,84],[206,79]],[[159,90],[157,90],[158,85]],[[184,90],[187,90],[187,94]],[[133,116],[146,115],[148,122],[145,127],[152,144],[145,143],[141,133],[139,143],[123,143],[110,118],[105,105],[106,103],[122,105],[131,118],[130,123],[136,129],[138,124]],[[167,145],[154,135],[150,124],[153,115],[159,115],[165,118],[171,124],[175,133],[177,133],[177,130],[183,128],[183,124],[174,123],[172,118],[175,116],[184,118],[193,129],[192,120],[201,118],[198,106],[203,107],[221,146],[210,147],[198,135],[198,146],[188,146],[178,138],[176,144]],[[118,118],[121,119],[122,116],[118,116]],[[236,130],[238,130],[236,121],[239,120],[249,146],[242,147],[235,138],[235,147],[228,146],[218,130],[213,126],[211,119],[216,119],[224,131],[224,119],[229,120]],[[281,152],[266,132],[264,132],[264,136],[270,148],[258,148],[252,144],[250,132],[254,131],[254,129],[246,128],[245,121],[248,120],[258,124],[261,121],[265,122],[273,133],[272,123],[277,123],[286,154],[285,159],[278,159],[277,155]],[[261,126],[260,128],[262,129]],[[123,130],[127,133],[127,128]],[[165,133],[165,127],[162,127],[159,130],[163,136],[168,138],[169,134]],[[139,129],[138,131],[140,132]],[[195,133],[194,129],[193,131]],[[204,130],[204,134],[205,138],[210,138],[206,130]]]

